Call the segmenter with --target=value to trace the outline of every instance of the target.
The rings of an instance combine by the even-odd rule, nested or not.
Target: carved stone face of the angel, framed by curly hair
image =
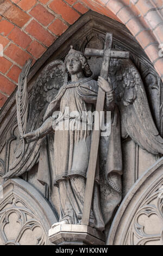
[[[67,70],[71,75],[77,74],[78,72],[82,71],[83,68],[82,62],[79,60],[76,54],[71,54],[67,57],[66,65]]]

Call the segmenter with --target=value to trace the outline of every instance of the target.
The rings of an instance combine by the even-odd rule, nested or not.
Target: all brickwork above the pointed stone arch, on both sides
[[[16,88],[26,60],[33,58],[34,64],[89,9],[124,23],[163,81],[163,0],[1,0],[0,108]]]

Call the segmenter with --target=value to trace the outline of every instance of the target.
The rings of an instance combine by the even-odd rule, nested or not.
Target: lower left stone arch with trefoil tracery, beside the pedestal
[[[28,182],[16,178],[3,184],[0,212],[0,245],[50,244],[48,230],[57,217]]]

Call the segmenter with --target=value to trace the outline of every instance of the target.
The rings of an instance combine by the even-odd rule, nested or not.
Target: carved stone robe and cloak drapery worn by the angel
[[[67,220],[70,224],[78,224],[82,219],[84,192],[86,183],[86,173],[89,164],[89,154],[91,147],[91,131],[86,122],[85,129],[82,130],[82,112],[94,111],[97,100],[98,86],[95,80],[84,78],[79,82],[70,82],[62,86],[58,95],[49,104],[45,113],[46,120],[51,117],[60,105],[60,114],[54,120],[54,158],[53,158],[53,184],[59,187],[60,196],[60,221]],[[106,108],[109,102],[109,95],[106,95]],[[70,116],[67,115],[68,108]],[[78,116],[76,117],[76,113]],[[56,127],[65,127],[69,118],[70,130],[60,130]],[[118,111],[115,107],[112,113],[111,135],[108,150],[108,162],[106,169],[106,179],[118,193],[121,194],[122,174],[122,154],[120,121]],[[74,125],[75,124],[75,125]],[[57,125],[57,126],[56,126]],[[76,128],[75,128],[76,127]],[[73,128],[73,130],[71,129]],[[80,129],[79,129],[80,128]],[[115,142],[114,142],[115,141]],[[46,147],[44,146],[44,151]],[[115,151],[116,150],[116,151]],[[44,152],[45,156],[46,153]],[[117,161],[118,159],[118,161]],[[45,157],[43,157],[45,165]],[[38,179],[50,184],[48,176],[43,175],[42,163],[39,161]],[[44,170],[45,171],[45,170]],[[96,175],[98,181],[99,175]],[[116,182],[116,186],[115,186]],[[119,203],[114,197],[115,204]],[[106,207],[107,208],[107,207]],[[110,211],[110,209],[108,208]],[[108,213],[109,214],[109,213]],[[107,211],[105,212],[107,215]],[[104,221],[108,222],[108,217],[104,216]],[[95,182],[92,210],[90,215],[90,225],[99,230],[104,230],[105,224],[100,210],[98,185]]]

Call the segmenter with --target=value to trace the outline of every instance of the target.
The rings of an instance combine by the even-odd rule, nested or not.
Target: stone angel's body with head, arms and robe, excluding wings
[[[91,146],[89,123],[86,119],[85,129],[82,129],[82,118],[83,112],[95,110],[98,86],[106,92],[107,109],[114,109],[114,91],[111,83],[100,76],[98,82],[90,77],[92,72],[82,52],[71,48],[65,58],[65,66],[71,81],[64,84],[49,103],[41,127],[23,136],[25,141],[30,143],[48,132],[54,133],[54,185],[58,186],[60,196],[60,220],[54,225],[79,224],[82,220]],[[56,118],[55,111],[58,106],[60,112]],[[90,226],[103,231],[105,225],[99,208],[98,192],[95,193]]]

